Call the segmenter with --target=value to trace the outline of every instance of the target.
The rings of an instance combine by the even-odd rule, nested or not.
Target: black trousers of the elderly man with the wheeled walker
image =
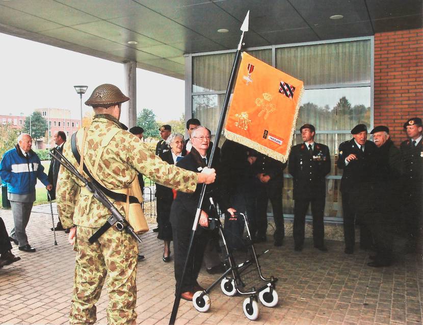
[[[176,290],[182,279],[183,265],[188,254],[190,244],[191,228],[173,227],[173,249],[175,251],[175,280]],[[198,285],[197,278],[203,262],[205,246],[208,242],[207,231],[197,230],[192,246],[192,253],[188,261],[187,271],[182,282],[182,291],[193,291],[193,287]]]

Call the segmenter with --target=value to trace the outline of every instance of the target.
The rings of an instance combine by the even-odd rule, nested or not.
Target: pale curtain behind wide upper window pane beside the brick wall
[[[371,42],[360,40],[276,48],[276,67],[305,86],[371,81]]]

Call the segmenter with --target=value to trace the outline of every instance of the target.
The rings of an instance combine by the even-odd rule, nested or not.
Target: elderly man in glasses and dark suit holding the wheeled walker
[[[204,127],[198,127],[191,133],[193,147],[191,152],[182,158],[176,166],[191,171],[201,171],[207,166],[206,152],[210,141],[210,134]],[[185,259],[188,254],[191,230],[196,216],[197,205],[199,202],[202,186],[197,186],[194,193],[177,192],[172,203],[170,212],[170,222],[172,224],[173,249],[175,251],[175,280],[176,288],[182,281],[182,270]],[[207,190],[202,202],[199,217],[199,225],[208,227],[208,214],[210,213],[209,197],[210,190],[213,188],[207,186]],[[197,227],[194,237],[193,252],[188,263],[185,278],[182,283],[181,298],[191,301],[194,292],[203,290],[198,282],[198,273],[203,261],[204,250],[208,241],[207,231]]]

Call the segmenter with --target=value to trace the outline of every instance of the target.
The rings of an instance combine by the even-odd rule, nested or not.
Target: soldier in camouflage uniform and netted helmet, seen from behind
[[[104,147],[98,166],[91,169],[95,178],[111,190],[128,188],[141,172],[148,178],[178,191],[194,192],[197,183],[213,183],[214,169],[196,173],[163,162],[151,154],[144,142],[119,122],[121,103],[128,101],[114,85],[104,84],[94,89],[85,103],[92,106],[95,116],[86,129],[85,141],[76,141],[84,164],[94,166],[96,153],[104,144],[102,140],[110,133],[115,135]],[[77,138],[78,140],[78,138]],[[84,146],[82,146],[84,143]],[[63,154],[78,168],[79,164],[71,150],[71,141],[65,143]],[[84,173],[84,176],[87,175]],[[70,310],[71,324],[92,324],[96,321],[95,303],[108,275],[109,306],[107,317],[110,324],[135,323],[136,271],[138,245],[126,232],[115,227],[90,244],[88,239],[107,221],[110,212],[89,193],[83,183],[61,167],[57,200],[64,228],[71,228],[69,241],[74,241],[76,251],[73,296]],[[116,204],[122,215],[122,205]],[[77,234],[76,234],[77,232]]]

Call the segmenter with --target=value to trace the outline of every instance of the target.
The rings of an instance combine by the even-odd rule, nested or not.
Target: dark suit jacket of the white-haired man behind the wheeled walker
[[[198,168],[203,168],[206,165],[201,160],[201,156],[198,154],[198,152],[193,148],[187,156],[183,157],[182,160],[176,164],[176,166],[199,172]],[[206,193],[204,195],[203,203],[201,206],[201,209],[206,213],[209,213],[209,197],[213,193],[214,186],[215,185],[210,184],[206,187]],[[187,229],[187,231],[192,229],[197,211],[197,205],[201,195],[201,188],[202,184],[198,184],[194,193],[177,192],[170,212],[170,222],[172,223],[172,227]],[[199,231],[201,232],[200,228]]]

